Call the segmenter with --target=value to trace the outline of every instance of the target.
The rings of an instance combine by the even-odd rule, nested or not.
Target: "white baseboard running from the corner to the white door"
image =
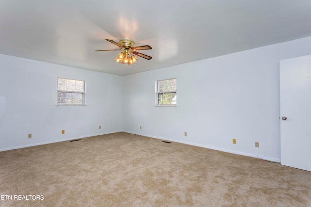
[[[222,151],[222,152],[228,152],[228,153],[232,153],[232,154],[236,154],[236,155],[243,155],[243,156],[248,156],[248,157],[253,157],[253,158],[258,158],[258,159],[264,159],[264,160],[272,161],[272,162],[276,162],[276,163],[281,162],[281,159],[271,158],[271,157],[267,157],[267,156],[263,156],[263,155],[250,154],[250,153],[244,153],[244,152],[240,152],[240,151],[234,151],[234,150],[229,150],[229,149],[224,149],[224,148],[219,148],[219,147],[214,147],[214,146],[208,146],[208,145],[204,145],[204,144],[190,143],[190,142],[184,142],[184,141],[180,141],[180,140],[167,139],[167,138],[163,138],[163,137],[151,136],[148,134],[141,134],[141,133],[136,133],[136,132],[131,132],[131,131],[123,131],[123,132],[130,133],[130,134],[137,134],[137,135],[145,136],[145,137],[151,137],[151,138],[160,139],[160,140],[172,141],[172,142],[176,142],[176,143],[184,143],[184,144],[189,144],[189,145],[193,145],[193,146],[200,146],[200,147],[204,147],[204,148],[208,148],[208,149],[214,149],[214,150],[218,150],[218,151]]]

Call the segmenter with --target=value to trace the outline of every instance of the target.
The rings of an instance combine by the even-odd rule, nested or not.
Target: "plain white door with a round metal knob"
[[[281,164],[311,171],[311,55],[280,61]]]

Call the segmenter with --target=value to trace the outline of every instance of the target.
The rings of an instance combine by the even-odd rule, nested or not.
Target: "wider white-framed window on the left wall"
[[[57,105],[85,105],[85,82],[58,78]]]

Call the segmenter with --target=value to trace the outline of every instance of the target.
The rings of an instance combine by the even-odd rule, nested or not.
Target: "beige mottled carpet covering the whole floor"
[[[311,206],[311,172],[161,141],[120,132],[0,152],[12,196],[0,206]]]

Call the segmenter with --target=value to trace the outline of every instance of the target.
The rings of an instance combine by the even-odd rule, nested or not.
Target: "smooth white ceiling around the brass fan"
[[[0,53],[120,76],[311,36],[311,0],[0,0]],[[132,68],[105,41],[130,39]]]

